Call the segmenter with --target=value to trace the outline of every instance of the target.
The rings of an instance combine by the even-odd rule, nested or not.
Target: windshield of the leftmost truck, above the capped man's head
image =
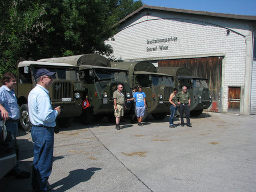
[[[33,73],[36,74],[39,68],[33,68]],[[77,69],[75,68],[46,68],[47,70],[56,73],[53,79],[66,79],[69,81],[79,81],[77,77]]]

